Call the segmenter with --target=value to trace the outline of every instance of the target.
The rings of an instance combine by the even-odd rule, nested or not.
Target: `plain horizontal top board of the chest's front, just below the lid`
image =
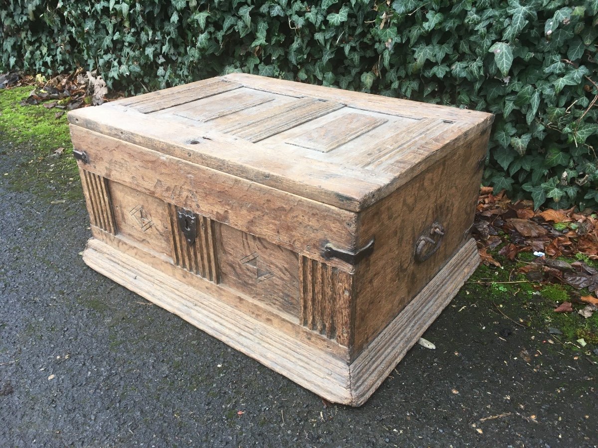
[[[355,247],[355,213],[81,127],[72,127],[71,133],[89,155],[85,169],[114,182],[313,259],[324,261],[325,241]],[[338,260],[330,263],[351,269]]]

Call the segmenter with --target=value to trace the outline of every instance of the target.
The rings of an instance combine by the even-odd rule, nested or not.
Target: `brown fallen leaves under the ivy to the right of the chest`
[[[562,283],[575,289],[598,293],[598,270],[583,262],[566,262],[556,257],[584,254],[586,260],[598,259],[598,216],[569,210],[534,211],[532,201],[512,202],[491,187],[483,187],[478,198],[477,213],[472,228],[482,262],[500,267],[490,253],[504,244],[498,253],[514,261],[522,252],[533,253],[532,262],[523,263],[516,272],[538,283]],[[598,299],[581,296],[575,299],[586,308],[579,314],[589,317],[598,309]],[[563,302],[554,311],[573,312],[571,303]]]

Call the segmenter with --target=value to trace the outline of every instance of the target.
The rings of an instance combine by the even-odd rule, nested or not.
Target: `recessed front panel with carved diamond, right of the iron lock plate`
[[[297,320],[297,254],[230,226],[216,227],[221,284]]]

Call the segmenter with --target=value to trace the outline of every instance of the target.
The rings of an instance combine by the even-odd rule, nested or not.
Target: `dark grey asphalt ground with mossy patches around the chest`
[[[364,406],[325,407],[88,268],[77,179],[26,179],[26,151],[0,141],[0,446],[598,444],[597,366],[467,285],[424,335],[435,350]]]

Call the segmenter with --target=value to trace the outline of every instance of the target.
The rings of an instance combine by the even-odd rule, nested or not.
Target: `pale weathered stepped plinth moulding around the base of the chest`
[[[450,302],[479,262],[469,241],[362,354],[347,364],[306,340],[187,286],[92,239],[93,269],[333,403],[361,406]]]

